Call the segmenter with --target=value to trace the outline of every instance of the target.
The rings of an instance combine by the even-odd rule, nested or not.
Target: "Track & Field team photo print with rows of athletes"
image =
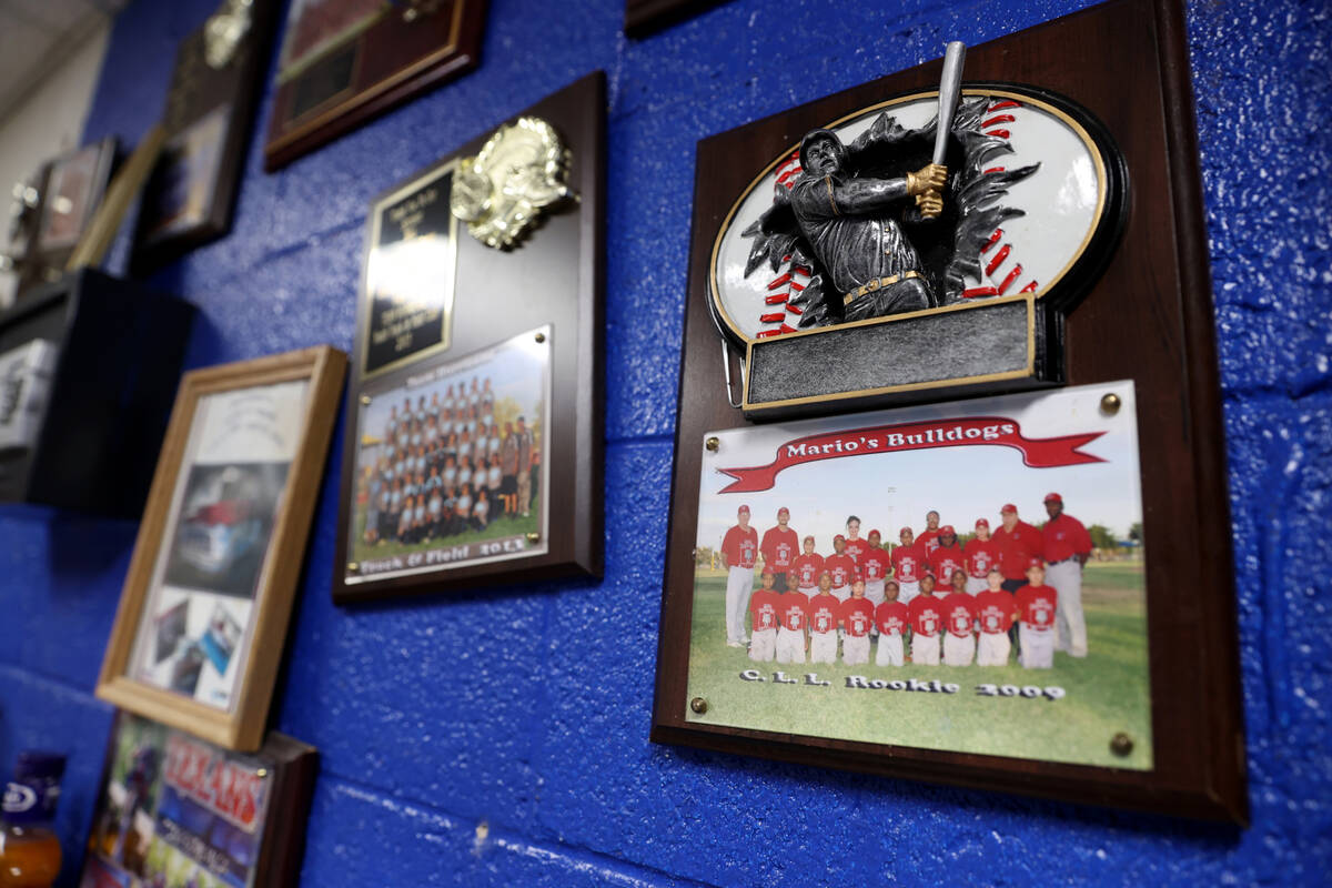
[[[421,370],[362,406],[346,582],[545,551],[549,335]]]

